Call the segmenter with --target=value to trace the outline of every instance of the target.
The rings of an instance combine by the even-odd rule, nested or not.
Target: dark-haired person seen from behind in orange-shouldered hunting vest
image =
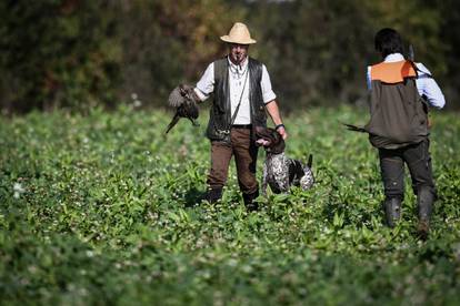
[[[437,198],[429,153],[428,110],[442,109],[444,96],[422,63],[404,59],[402,39],[396,30],[380,30],[374,43],[383,61],[368,67],[371,119],[364,130],[379,150],[386,220],[393,227],[401,217],[406,163],[417,194],[418,232],[427,238]]]

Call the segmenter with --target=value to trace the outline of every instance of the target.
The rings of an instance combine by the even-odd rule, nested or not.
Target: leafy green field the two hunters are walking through
[[[223,200],[206,187],[208,118],[121,108],[0,119],[2,305],[458,305],[460,121],[433,113],[439,200],[431,236],[383,225],[377,152],[363,110],[286,119],[288,155],[314,155],[314,188],[261,198],[247,213],[232,164]],[[259,152],[259,172],[263,152]]]

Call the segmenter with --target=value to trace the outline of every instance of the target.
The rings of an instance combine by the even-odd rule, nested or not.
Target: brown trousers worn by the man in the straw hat
[[[256,178],[258,146],[251,139],[251,130],[232,128],[230,139],[230,144],[211,142],[211,171],[208,175],[208,185],[210,188],[226,185],[230,160],[234,155],[241,192],[243,194],[256,193],[259,190]]]

